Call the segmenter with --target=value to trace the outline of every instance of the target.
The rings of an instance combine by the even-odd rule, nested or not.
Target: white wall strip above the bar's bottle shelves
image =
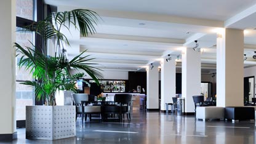
[[[82,72],[85,73],[83,71],[77,71],[77,70],[71,70],[71,74],[74,73],[78,73],[78,72]],[[123,80],[128,80],[128,71],[110,71],[110,70],[103,70],[100,71],[103,76],[104,79],[123,79]],[[91,79],[91,77],[86,74],[86,79]]]

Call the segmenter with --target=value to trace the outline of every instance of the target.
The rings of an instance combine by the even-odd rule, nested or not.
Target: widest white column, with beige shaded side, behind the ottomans
[[[217,38],[217,106],[244,105],[244,31],[226,29]]]

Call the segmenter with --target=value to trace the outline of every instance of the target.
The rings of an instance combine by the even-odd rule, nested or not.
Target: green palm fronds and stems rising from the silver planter
[[[58,12],[50,15],[45,20],[42,20],[32,25],[27,26],[28,30],[33,30],[44,38],[44,47],[47,49],[47,39],[55,39],[56,47],[60,46],[60,41],[68,39],[60,32],[63,26],[69,30],[70,25],[79,28],[82,36],[87,36],[88,33],[95,33],[94,24],[97,24],[97,14],[91,10],[76,9],[70,12]],[[52,23],[54,20],[54,23]],[[55,25],[58,25],[56,28]],[[22,84],[33,86],[35,89],[36,100],[44,98],[47,105],[55,105],[55,92],[57,90],[73,90],[76,92],[76,81],[84,77],[84,73],[71,75],[70,68],[74,70],[83,70],[99,84],[98,79],[102,79],[103,75],[100,69],[94,68],[92,65],[96,63],[88,63],[94,58],[84,56],[86,50],[81,52],[71,60],[67,60],[65,54],[55,54],[54,57],[47,56],[46,49],[38,52],[35,46],[22,47],[15,43],[14,46],[19,54],[22,54],[18,66],[25,66],[25,70],[30,70],[33,73],[35,81],[25,81]],[[17,56],[18,56],[17,55]]]

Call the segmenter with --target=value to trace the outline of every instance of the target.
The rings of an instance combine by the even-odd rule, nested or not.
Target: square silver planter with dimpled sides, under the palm
[[[75,106],[26,106],[26,138],[57,140],[76,136]]]

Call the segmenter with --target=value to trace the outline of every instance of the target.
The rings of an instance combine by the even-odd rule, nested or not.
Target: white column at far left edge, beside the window
[[[0,4],[0,135],[14,134],[15,121],[15,0],[2,0]]]

